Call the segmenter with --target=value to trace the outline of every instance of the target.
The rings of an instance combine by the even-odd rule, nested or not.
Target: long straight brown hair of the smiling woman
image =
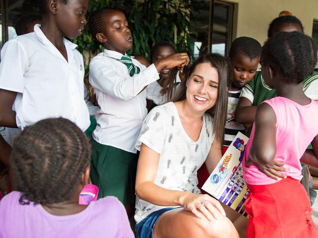
[[[186,80],[190,79],[195,68],[201,63],[210,63],[216,68],[219,76],[218,99],[215,105],[208,109],[206,113],[213,117],[212,128],[215,139],[223,145],[224,126],[227,119],[227,79],[230,76],[230,67],[225,57],[219,54],[207,54],[197,59],[187,74]],[[181,82],[179,90],[170,100],[172,102],[186,99],[186,80]]]

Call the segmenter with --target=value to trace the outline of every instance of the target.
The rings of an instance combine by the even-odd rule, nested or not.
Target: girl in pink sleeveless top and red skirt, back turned
[[[317,62],[316,52],[313,40],[299,32],[279,32],[263,46],[262,77],[277,97],[258,106],[245,149],[247,237],[318,237],[299,181],[300,161],[318,166],[318,102],[302,90]],[[310,143],[313,151],[308,152]]]

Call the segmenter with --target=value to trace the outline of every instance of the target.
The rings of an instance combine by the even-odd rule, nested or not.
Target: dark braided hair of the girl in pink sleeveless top
[[[262,66],[277,70],[287,83],[301,83],[314,70],[317,46],[300,32],[278,32],[262,48]]]

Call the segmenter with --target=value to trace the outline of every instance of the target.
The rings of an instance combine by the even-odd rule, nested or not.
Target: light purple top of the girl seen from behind
[[[0,238],[133,238],[124,206],[115,197],[91,202],[80,213],[54,216],[41,205],[21,205],[20,192],[0,201]]]

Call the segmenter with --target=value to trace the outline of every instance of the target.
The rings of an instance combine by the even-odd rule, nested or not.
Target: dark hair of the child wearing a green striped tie
[[[117,11],[117,12],[122,12],[125,14],[125,9],[117,7],[117,6],[107,6],[107,7],[102,7],[99,8],[95,11],[93,11],[90,15],[88,25],[89,25],[89,30],[91,32],[91,36],[93,37],[96,42],[100,43],[96,39],[96,34],[101,33],[103,29],[103,16],[111,11]]]

